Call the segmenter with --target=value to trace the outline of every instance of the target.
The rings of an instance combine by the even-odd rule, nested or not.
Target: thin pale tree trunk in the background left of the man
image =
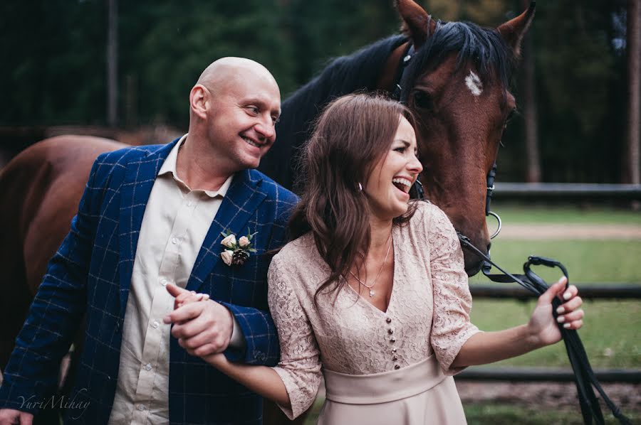
[[[118,124],[118,0],[108,0],[107,18],[107,124]]]

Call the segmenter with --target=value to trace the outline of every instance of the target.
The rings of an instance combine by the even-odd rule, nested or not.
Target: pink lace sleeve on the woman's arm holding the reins
[[[469,321],[471,294],[465,273],[463,252],[452,223],[434,207],[429,222],[430,269],[434,296],[431,344],[446,375],[464,368],[452,362],[471,335],[479,332]]]

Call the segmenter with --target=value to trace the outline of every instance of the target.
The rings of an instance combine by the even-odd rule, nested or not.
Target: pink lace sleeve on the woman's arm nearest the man
[[[273,369],[285,384],[291,409],[279,406],[289,419],[306,411],[316,399],[320,385],[320,358],[318,344],[298,296],[296,285],[286,262],[278,255],[269,267],[269,309],[278,329],[281,360]]]

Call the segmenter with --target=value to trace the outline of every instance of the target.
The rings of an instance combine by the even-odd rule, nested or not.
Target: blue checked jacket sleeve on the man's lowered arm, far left
[[[56,389],[62,357],[86,310],[90,256],[103,193],[93,164],[71,231],[48,264],[4,371],[0,407],[35,413]],[[40,403],[40,404],[38,404]]]

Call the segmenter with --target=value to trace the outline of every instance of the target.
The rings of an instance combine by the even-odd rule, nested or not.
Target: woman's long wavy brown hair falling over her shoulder
[[[290,220],[291,238],[311,231],[320,257],[331,269],[315,301],[323,289],[340,289],[340,276],[368,254],[370,207],[359,183],[364,184],[371,169],[387,155],[401,117],[416,128],[412,113],[399,102],[357,94],[335,99],[316,122],[300,174],[306,189]],[[410,204],[394,222],[406,222],[415,209]]]

